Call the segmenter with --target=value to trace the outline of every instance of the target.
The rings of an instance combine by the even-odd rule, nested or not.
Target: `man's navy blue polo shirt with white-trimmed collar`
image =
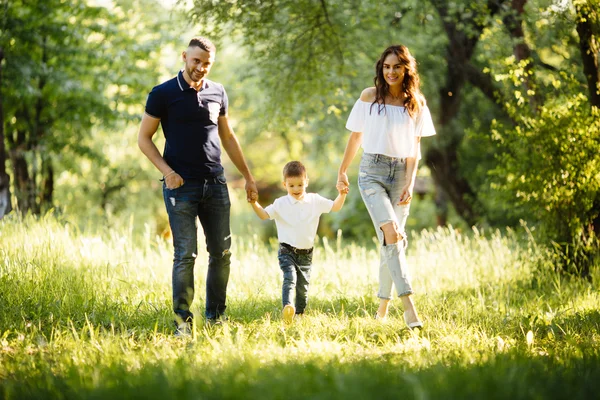
[[[217,120],[227,114],[227,107],[223,85],[204,78],[202,88],[196,91],[181,71],[148,95],[146,114],[160,118],[165,133],[163,158],[183,179],[223,172]]]

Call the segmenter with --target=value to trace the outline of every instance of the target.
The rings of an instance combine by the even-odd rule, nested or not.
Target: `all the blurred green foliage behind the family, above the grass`
[[[567,240],[598,208],[589,205],[597,187],[590,173],[597,146],[592,136],[585,136],[593,135],[585,124],[593,125],[597,115],[590,114],[578,97],[585,92],[585,78],[575,13],[567,3],[528,1],[522,18],[532,64],[516,65],[511,56],[514,43],[502,20],[511,10],[504,2],[501,12],[490,17],[492,3],[452,2],[445,16],[438,14],[435,1],[413,0],[197,0],[188,11],[196,22],[194,34],[220,42],[212,78],[228,90],[230,117],[255,178],[272,188],[281,180],[283,164],[301,159],[309,166],[311,190],[329,197],[335,196],[336,170],[348,137],[346,116],[361,90],[372,84],[373,64],[381,50],[395,42],[408,45],[419,62],[423,90],[437,119],[443,111],[439,109],[443,77],[452,67],[446,60],[444,24],[456,24],[471,39],[475,28],[484,26],[471,63],[494,78],[501,106],[466,85],[459,115],[443,127],[436,122],[438,135],[424,140],[423,154],[432,143],[440,147],[460,143],[458,163],[452,168],[466,177],[479,197],[481,223],[515,226],[523,218],[543,220],[554,231],[552,237]],[[596,0],[588,3],[592,10],[597,5]],[[152,0],[100,3],[114,5],[108,8],[94,4],[3,3],[0,45],[7,54],[2,86],[7,144],[28,162],[32,174],[38,174],[39,188],[47,175],[44,165],[54,168],[51,206],[62,215],[73,219],[82,215],[77,222],[81,225],[113,226],[135,211],[136,232],[143,231],[145,223],[160,232],[166,221],[158,175],[138,151],[132,126],[137,128],[150,88],[174,74],[177,53],[189,37],[180,37],[171,54],[166,55],[165,49],[192,19],[167,13]],[[532,76],[524,73],[527,66],[532,66]],[[561,75],[565,71],[568,74]],[[528,77],[535,78],[535,90],[542,98],[556,100],[540,108],[543,118],[527,106],[531,93],[523,83]],[[42,108],[34,118],[38,104]],[[511,118],[518,128],[513,128]],[[563,168],[569,178],[552,182],[532,173],[533,165],[542,161],[531,160],[533,152],[525,149],[541,141],[544,132],[556,138],[567,135],[567,127],[576,131],[572,133],[576,151],[559,148],[553,159],[566,161],[540,168],[548,176],[554,166]],[[157,141],[161,148],[162,138]],[[578,157],[591,163],[586,164],[587,172],[573,169],[584,168],[576,165]],[[239,190],[239,175],[224,159],[231,186]],[[356,165],[353,168],[356,172]],[[532,175],[527,183],[512,178],[523,173]],[[586,180],[591,184],[586,186]],[[254,227],[256,221],[240,211],[247,205],[243,201],[238,205],[233,223],[249,220]],[[431,226],[433,207],[430,195],[416,201],[408,228]],[[364,211],[358,190],[353,190],[340,213],[324,218],[321,234],[333,237],[343,229],[347,237],[370,243],[373,228]],[[569,222],[561,225],[557,215],[563,211],[568,214],[562,218]]]

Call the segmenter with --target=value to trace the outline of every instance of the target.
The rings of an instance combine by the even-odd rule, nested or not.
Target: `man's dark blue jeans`
[[[207,319],[225,313],[231,253],[229,192],[225,176],[185,181],[177,189],[163,185],[163,196],[173,232],[173,311],[181,321],[194,317],[194,262],[198,254],[198,219],[209,254],[206,274]],[[179,322],[181,322],[179,321]]]

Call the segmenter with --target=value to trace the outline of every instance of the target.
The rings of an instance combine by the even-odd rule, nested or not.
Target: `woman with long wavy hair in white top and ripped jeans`
[[[406,264],[404,227],[412,200],[420,140],[435,135],[431,114],[420,90],[415,59],[405,46],[388,47],[375,66],[375,87],[360,95],[348,117],[352,133],[338,172],[339,188],[348,190],[348,167],[358,148],[358,187],[381,243],[378,319],[387,316],[392,283],[404,307],[409,328],[423,323],[412,302]],[[338,188],[338,189],[339,189]]]

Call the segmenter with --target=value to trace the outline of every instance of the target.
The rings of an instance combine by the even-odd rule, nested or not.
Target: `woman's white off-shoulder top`
[[[411,118],[403,106],[385,105],[378,113],[378,105],[357,100],[352,107],[346,129],[362,132],[365,153],[384,154],[389,157],[414,157],[415,137],[433,136],[435,128],[431,113],[423,106],[416,118]],[[420,154],[417,158],[421,158]]]

